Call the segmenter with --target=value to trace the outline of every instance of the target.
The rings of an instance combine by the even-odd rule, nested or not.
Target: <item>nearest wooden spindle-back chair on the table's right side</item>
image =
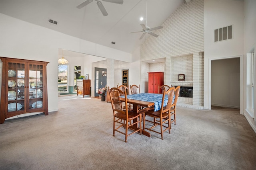
[[[164,98],[166,97],[166,95],[168,96],[168,102],[167,102],[167,105],[164,107]],[[146,111],[144,113],[143,129],[147,129],[149,131],[153,131],[155,133],[161,134],[162,139],[164,139],[163,133],[165,131],[168,130],[169,133],[170,133],[170,131],[171,131],[170,109],[171,109],[171,106],[172,106],[173,96],[174,96],[174,87],[172,87],[169,90],[163,92],[161,109],[158,110],[158,111],[149,110],[149,111]],[[146,119],[147,115],[149,117],[153,117],[154,121],[152,121],[152,118],[151,119]],[[156,119],[159,119],[159,121],[155,121]],[[153,125],[150,128],[146,128],[145,127],[145,121],[148,121]],[[167,123],[167,125],[164,124],[164,123]],[[153,130],[153,128],[155,128],[158,125],[160,125],[160,132],[157,131],[157,130]],[[163,128],[165,128],[165,129],[163,129]]]

